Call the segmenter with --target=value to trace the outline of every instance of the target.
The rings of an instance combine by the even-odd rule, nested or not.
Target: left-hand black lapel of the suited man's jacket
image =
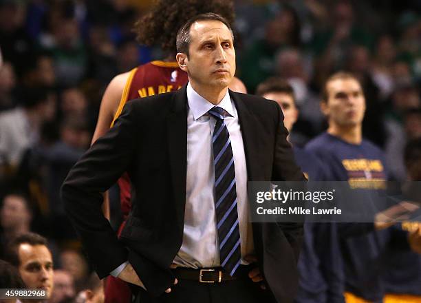
[[[184,208],[186,205],[187,171],[187,95],[186,85],[178,90],[171,101],[167,120],[170,174],[179,232],[183,233]]]

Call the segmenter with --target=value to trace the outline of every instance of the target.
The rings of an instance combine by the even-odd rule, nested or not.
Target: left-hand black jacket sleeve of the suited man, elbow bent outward
[[[127,261],[127,249],[103,216],[101,205],[102,193],[127,171],[136,155],[139,132],[134,103],[127,103],[114,127],[80,158],[61,187],[67,216],[100,278]]]

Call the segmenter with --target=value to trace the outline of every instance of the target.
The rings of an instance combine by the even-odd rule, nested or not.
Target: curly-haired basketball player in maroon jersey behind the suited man
[[[221,14],[230,23],[234,21],[232,1],[159,0],[151,8],[151,11],[136,23],[138,42],[149,46],[160,45],[167,56],[163,60],[151,61],[114,77],[102,96],[92,143],[105,134],[110,126],[112,127],[127,101],[178,90],[187,83],[186,72],[180,70],[175,61],[177,30],[188,19],[204,12],[215,12]],[[246,93],[246,87],[237,78],[233,79],[230,89]],[[127,174],[118,180],[118,186],[120,187],[120,205],[124,220],[118,230],[120,233],[131,209],[130,180]],[[107,194],[105,194],[103,205],[105,216],[109,218]],[[109,276],[105,284],[105,303],[130,301],[129,286],[122,280]]]

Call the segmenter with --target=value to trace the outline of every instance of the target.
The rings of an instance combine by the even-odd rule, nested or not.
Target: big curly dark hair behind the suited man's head
[[[140,44],[160,45],[165,52],[175,54],[177,31],[197,14],[215,12],[233,24],[232,0],[157,0],[153,8],[135,24],[134,32]]]

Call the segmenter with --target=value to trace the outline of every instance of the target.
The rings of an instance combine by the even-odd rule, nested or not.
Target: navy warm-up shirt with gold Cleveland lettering
[[[350,185],[357,186],[364,186],[363,179],[387,180],[380,150],[365,140],[360,144],[347,143],[341,138],[325,133],[310,141],[306,149],[316,153],[325,163],[332,177],[330,180],[348,181]],[[362,164],[360,167],[355,165],[358,161],[365,163],[363,165],[366,167]],[[345,166],[346,163],[354,164]],[[376,182],[371,184],[375,185]],[[336,225],[338,228],[342,227],[341,223]],[[346,298],[356,295],[365,300],[381,302],[384,290],[379,274],[382,269],[381,255],[387,242],[389,242],[388,230],[372,231],[362,236],[341,240],[341,250],[337,252],[336,258],[343,259]],[[352,302],[352,299],[348,300]]]

